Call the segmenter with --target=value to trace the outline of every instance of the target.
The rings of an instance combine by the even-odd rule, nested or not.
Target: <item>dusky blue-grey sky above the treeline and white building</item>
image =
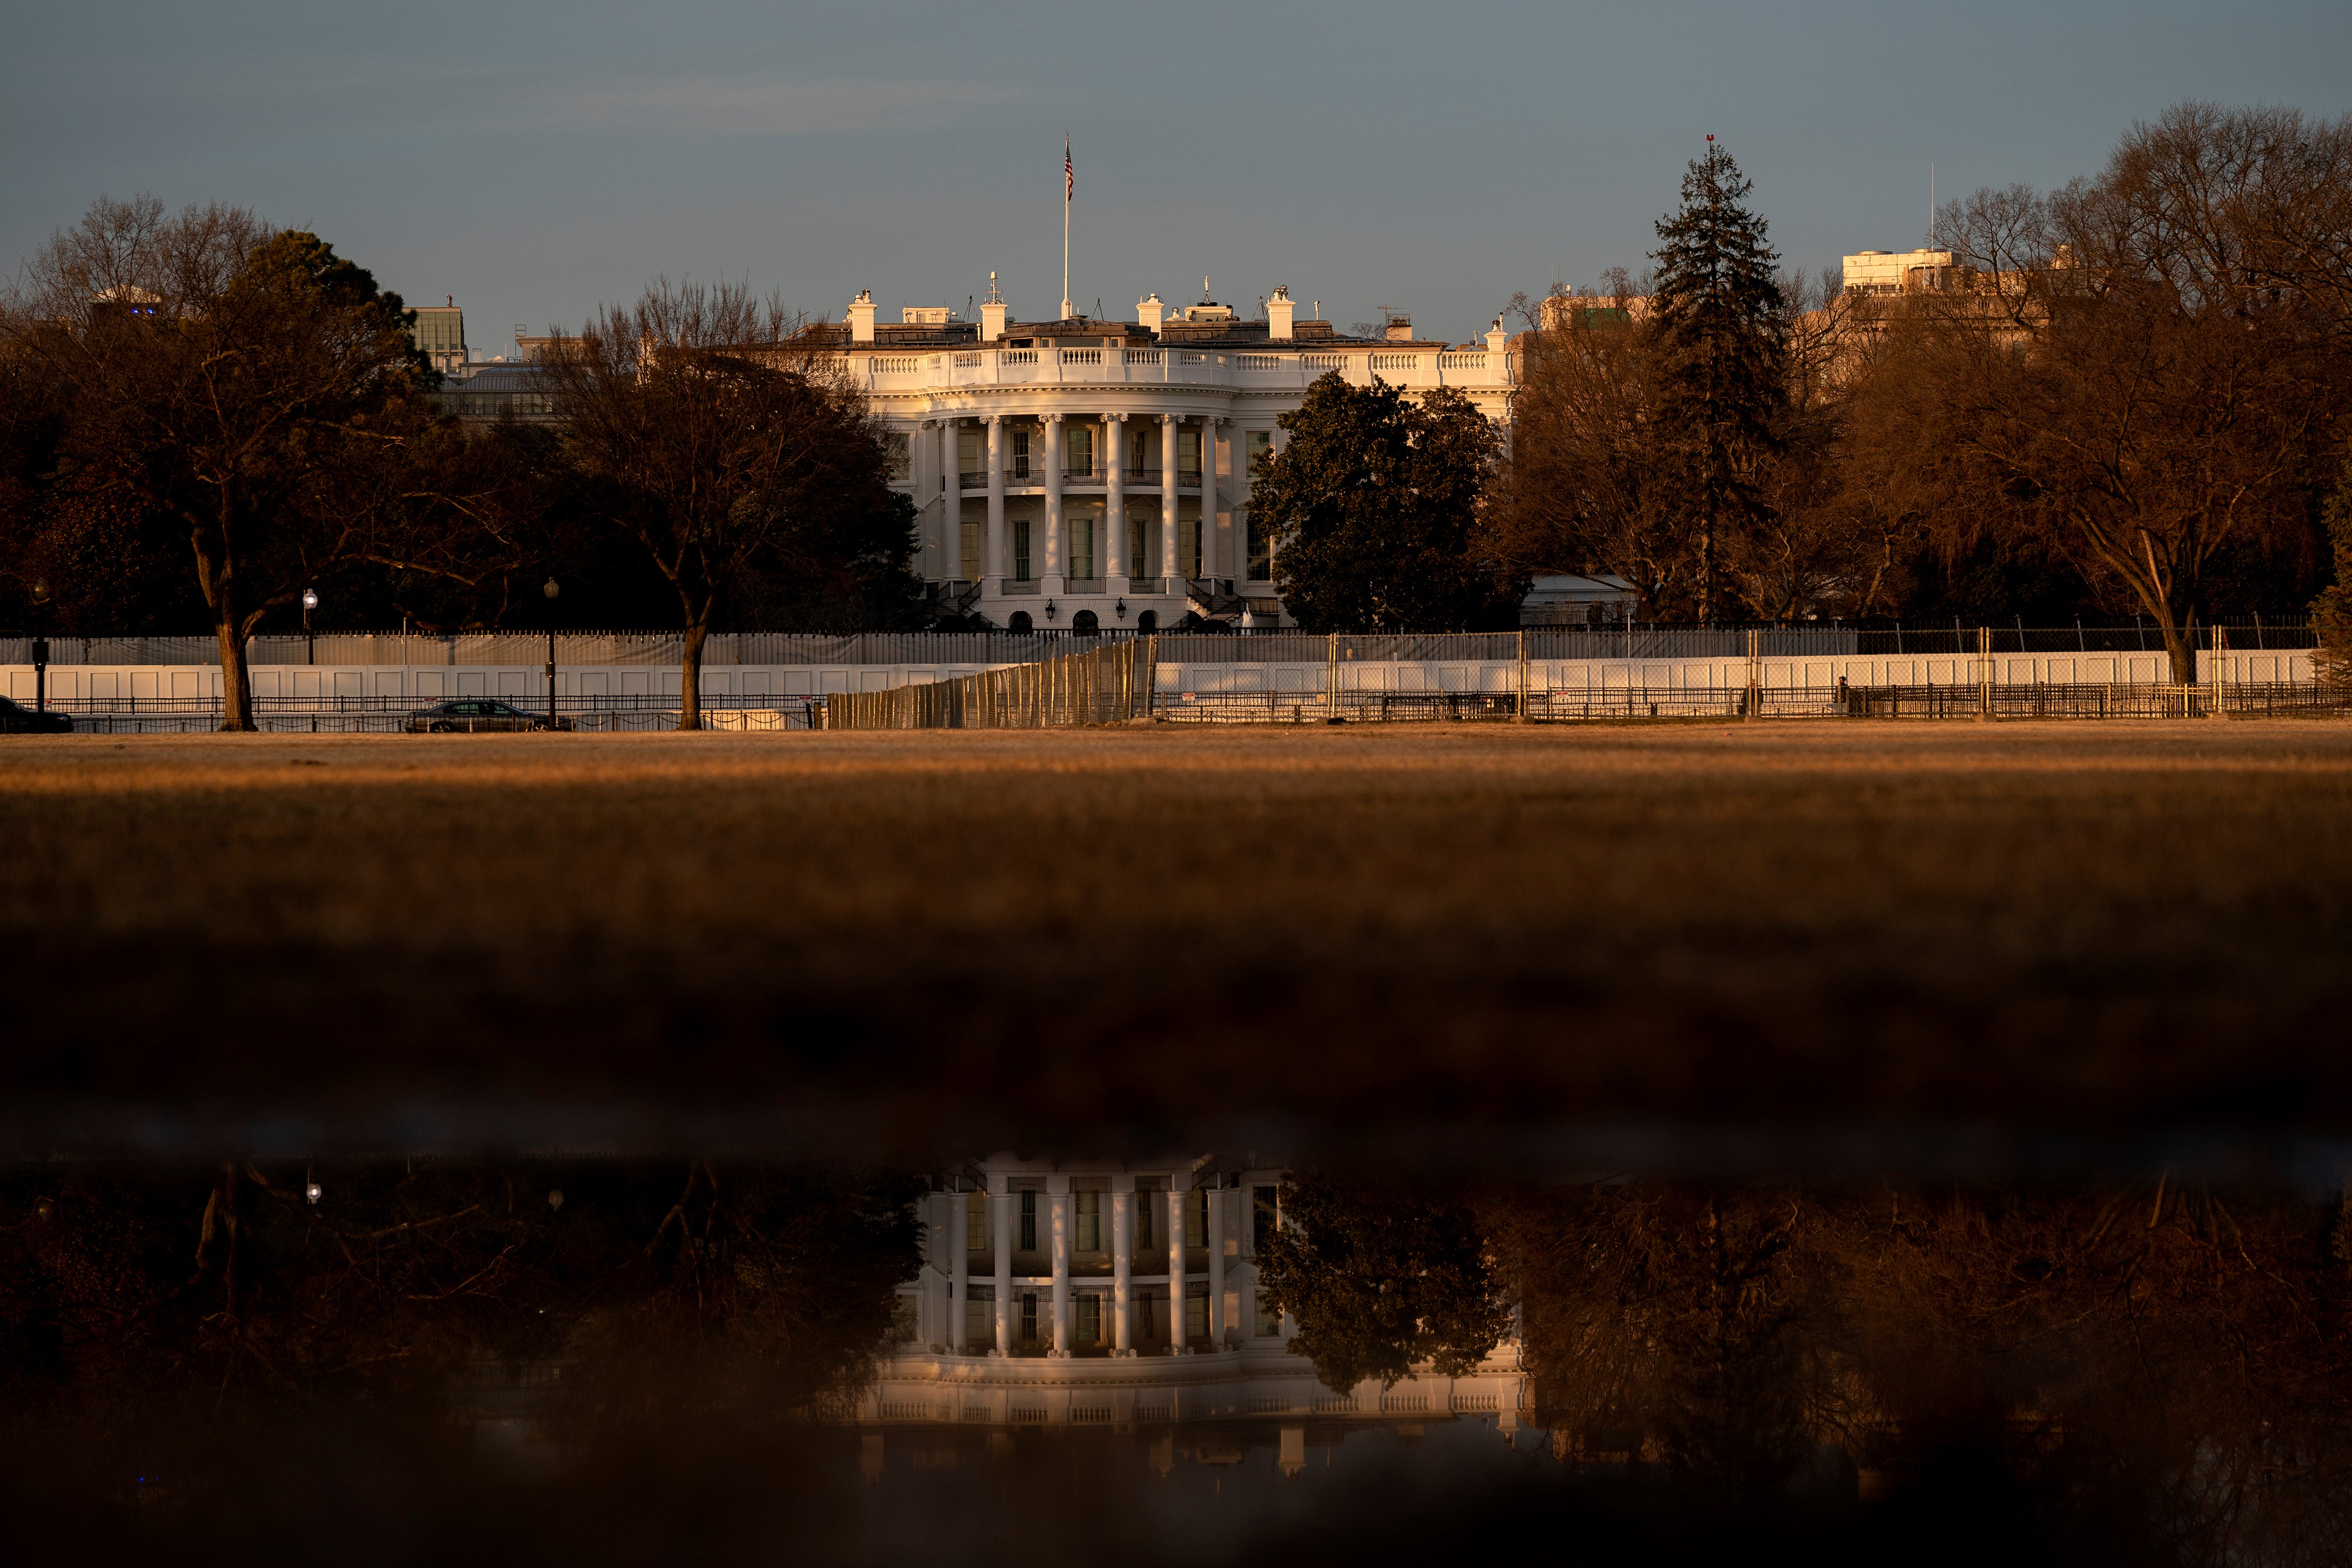
[[[1068,136],[1082,310],[1207,275],[1468,341],[1642,273],[1710,132],[1813,270],[1922,242],[1931,165],[2065,183],[2180,99],[2352,110],[2352,2],[80,0],[0,52],[0,266],[143,190],[456,296],[477,355],[656,277],[1042,317]]]

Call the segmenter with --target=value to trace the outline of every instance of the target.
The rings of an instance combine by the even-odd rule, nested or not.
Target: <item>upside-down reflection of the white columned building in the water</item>
[[[922,1276],[861,1418],[993,1427],[1317,1418],[1517,1420],[1503,1345],[1468,1378],[1334,1394],[1258,1305],[1282,1173],[1204,1157],[1143,1166],[995,1157],[931,1192]]]

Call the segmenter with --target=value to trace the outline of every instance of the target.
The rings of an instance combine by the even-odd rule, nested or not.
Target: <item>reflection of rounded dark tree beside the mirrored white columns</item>
[[[1468,1204],[1303,1175],[1282,1190],[1282,1227],[1258,1239],[1265,1312],[1298,1324],[1291,1352],[1324,1387],[1383,1387],[1428,1363],[1472,1371],[1505,1333],[1503,1291]]]

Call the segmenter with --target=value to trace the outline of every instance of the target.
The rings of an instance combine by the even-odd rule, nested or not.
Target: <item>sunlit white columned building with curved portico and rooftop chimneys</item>
[[[990,287],[990,294],[995,289]],[[1465,393],[1508,421],[1501,322],[1477,346],[1345,336],[1275,289],[1261,320],[1202,301],[1134,322],[978,322],[943,308],[875,320],[861,294],[826,327],[891,433],[922,517],[922,574],[953,607],[1014,630],[1171,628],[1188,614],[1277,625],[1272,557],[1249,522],[1251,463],[1331,371],[1406,393]]]

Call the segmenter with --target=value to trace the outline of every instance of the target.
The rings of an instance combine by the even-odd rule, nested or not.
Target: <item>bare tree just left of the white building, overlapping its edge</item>
[[[661,280],[546,353],[581,505],[677,592],[680,729],[701,729],[713,614],[753,574],[906,578],[880,428],[800,324],[743,284]]]

